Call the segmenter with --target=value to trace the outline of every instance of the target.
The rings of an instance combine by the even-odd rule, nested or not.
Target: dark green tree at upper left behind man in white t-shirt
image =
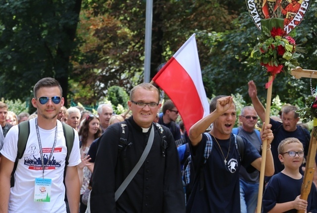
[[[81,0],[0,0],[0,97],[28,97],[51,76],[67,98],[80,8]]]

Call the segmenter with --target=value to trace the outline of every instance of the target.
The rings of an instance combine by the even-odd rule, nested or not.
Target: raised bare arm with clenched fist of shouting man
[[[211,125],[211,123],[217,119],[223,112],[228,110],[232,105],[233,98],[231,96],[223,97],[217,100],[216,109],[211,112],[206,117],[197,121],[190,129],[189,129],[189,139],[193,146],[197,146],[199,142],[202,140],[202,134],[206,131],[206,129]]]

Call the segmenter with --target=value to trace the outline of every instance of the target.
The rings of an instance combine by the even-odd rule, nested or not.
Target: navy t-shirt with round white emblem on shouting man
[[[199,145],[195,147],[190,145],[194,170],[197,172],[199,166],[203,165],[203,173],[200,173],[200,177],[194,182],[192,193],[187,202],[186,212],[240,213],[240,166],[248,166],[261,156],[254,146],[243,138],[244,156],[243,160],[240,161],[240,155],[235,147],[234,135],[231,134],[227,163],[224,163],[224,157],[219,146],[213,139],[211,155],[204,164],[204,151],[208,140],[207,137],[209,137],[207,134],[209,133],[203,134]],[[223,155],[226,157],[229,140],[216,140],[221,147]],[[201,175],[203,178],[201,178]]]

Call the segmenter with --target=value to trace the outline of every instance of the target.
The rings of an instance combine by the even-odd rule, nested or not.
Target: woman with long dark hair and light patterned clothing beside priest
[[[89,181],[93,171],[93,166],[87,163],[87,161],[89,161],[89,156],[87,156],[87,154],[90,145],[102,134],[99,118],[93,114],[88,115],[78,134],[81,137],[80,154],[82,158],[82,162],[78,165],[78,174],[80,179],[82,180],[82,187],[80,189],[80,213],[85,213],[87,206],[82,203],[81,198],[89,185]]]

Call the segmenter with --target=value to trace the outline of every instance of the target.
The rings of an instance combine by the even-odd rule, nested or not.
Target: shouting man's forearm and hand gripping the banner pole
[[[263,123],[263,126],[264,125],[265,125],[265,123]],[[262,127],[262,130],[261,130],[261,139],[262,139],[262,141],[267,140],[267,148],[272,143],[272,140],[274,138],[272,130],[270,129],[271,126],[272,126],[271,124],[265,125],[265,129],[263,129],[264,127]],[[256,160],[254,160],[251,163],[251,165],[260,171],[261,170],[261,162],[262,162],[262,158],[258,158]],[[265,176],[272,176],[274,174],[273,156],[272,156],[270,149],[266,151],[264,174],[265,174]]]

